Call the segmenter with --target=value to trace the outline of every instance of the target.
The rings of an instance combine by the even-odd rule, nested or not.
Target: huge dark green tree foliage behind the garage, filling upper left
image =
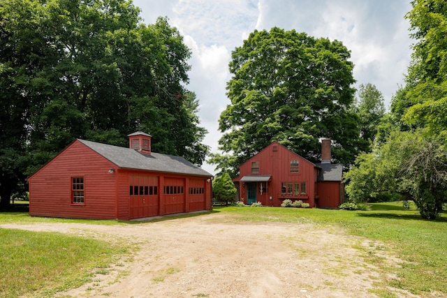
[[[126,145],[147,131],[154,151],[203,163],[191,52],[166,18],[139,13],[129,0],[0,0],[1,204],[76,137]]]

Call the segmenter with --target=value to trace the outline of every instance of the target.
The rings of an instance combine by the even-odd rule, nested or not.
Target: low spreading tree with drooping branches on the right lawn
[[[346,193],[354,202],[389,191],[411,198],[423,218],[434,219],[442,211],[447,201],[447,151],[439,137],[423,130],[395,132],[357,161],[345,174]]]

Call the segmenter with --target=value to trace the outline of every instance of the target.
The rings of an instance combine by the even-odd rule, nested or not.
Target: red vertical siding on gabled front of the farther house
[[[251,162],[258,161],[259,171],[253,173],[251,170]],[[291,161],[298,161],[298,172],[291,172]],[[310,207],[314,207],[314,194],[315,194],[315,172],[314,164],[302,158],[293,151],[288,150],[277,142],[273,142],[268,147],[265,147],[261,152],[249,159],[249,161],[240,165],[240,177],[247,175],[271,175],[270,181],[267,186],[265,182],[263,185],[263,193],[261,193],[261,183],[256,183],[256,200],[261,202],[264,206],[281,206],[281,203],[285,199],[290,200],[302,200],[302,202],[308,202]],[[281,183],[292,184],[293,188],[295,184],[299,186],[302,183],[306,184],[306,192],[295,194],[283,193],[281,191]],[[247,203],[247,187],[245,183],[240,182],[240,195],[244,198],[244,202]]]

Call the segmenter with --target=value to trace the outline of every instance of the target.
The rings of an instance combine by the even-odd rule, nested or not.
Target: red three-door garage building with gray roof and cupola
[[[212,174],[151,152],[151,138],[132,133],[129,148],[75,140],[29,177],[29,214],[128,221],[212,209]]]

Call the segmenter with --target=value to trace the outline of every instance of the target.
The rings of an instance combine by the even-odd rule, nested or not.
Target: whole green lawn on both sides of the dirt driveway
[[[326,229],[346,232],[384,243],[380,247],[360,248],[365,260],[383,274],[396,278],[377,281],[380,297],[395,297],[387,286],[407,290],[423,297],[437,291],[447,296],[447,214],[436,221],[420,218],[416,209],[405,210],[402,202],[370,204],[370,211],[297,209],[281,207],[214,207],[212,212],[234,214],[234,221],[273,221],[314,223]],[[200,216],[188,214],[170,218]],[[128,225],[136,222],[89,221],[80,219],[31,217],[25,212],[0,212],[1,223],[93,223]],[[20,297],[37,291],[41,297],[74,288],[104,271],[116,258],[131,251],[131,244],[86,239],[50,232],[0,229],[0,297]],[[390,267],[380,262],[380,249],[403,262]],[[355,290],[355,289],[354,289]],[[36,296],[36,295],[34,295]]]

